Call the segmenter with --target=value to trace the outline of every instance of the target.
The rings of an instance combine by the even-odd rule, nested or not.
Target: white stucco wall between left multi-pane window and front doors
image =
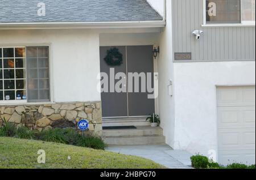
[[[0,31],[0,46],[50,46],[51,91],[55,102],[100,101],[99,33],[89,30]]]

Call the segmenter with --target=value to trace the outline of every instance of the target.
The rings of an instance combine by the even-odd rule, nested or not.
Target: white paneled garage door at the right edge
[[[218,162],[255,164],[255,86],[218,87]]]

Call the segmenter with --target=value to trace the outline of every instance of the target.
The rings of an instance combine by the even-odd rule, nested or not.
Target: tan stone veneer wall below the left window
[[[80,119],[88,119],[89,131],[102,135],[101,102],[71,102],[44,105],[0,105],[0,126],[3,119],[17,125],[43,131],[56,122],[75,126]],[[72,122],[72,123],[71,123]],[[59,123],[59,124],[60,124]]]

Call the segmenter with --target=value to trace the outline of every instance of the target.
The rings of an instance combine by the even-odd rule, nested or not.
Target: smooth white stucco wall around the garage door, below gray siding
[[[255,84],[255,62],[174,63],[174,149],[217,152],[216,85]],[[168,127],[172,128],[172,127]]]

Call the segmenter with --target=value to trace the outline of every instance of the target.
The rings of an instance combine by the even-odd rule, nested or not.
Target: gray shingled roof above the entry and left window
[[[46,16],[38,16],[39,2]],[[0,23],[162,20],[146,0],[0,0]]]

